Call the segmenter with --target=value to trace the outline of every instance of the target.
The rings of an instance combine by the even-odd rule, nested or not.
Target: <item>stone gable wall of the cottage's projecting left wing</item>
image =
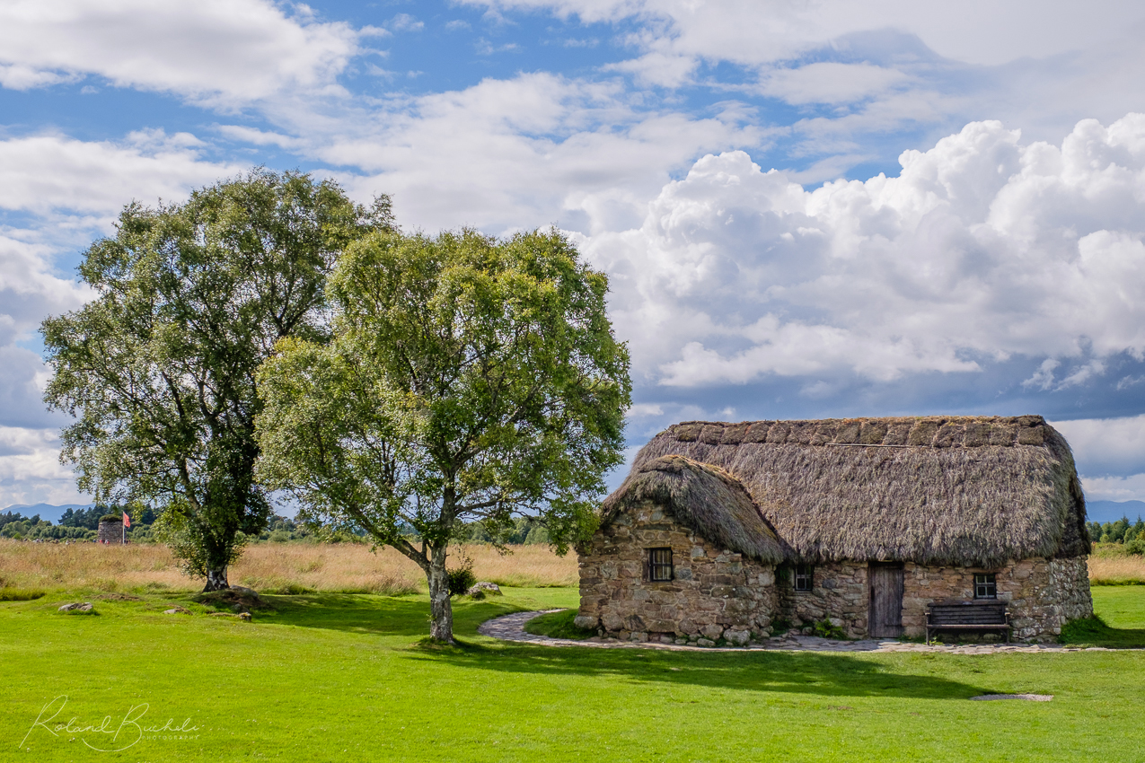
[[[649,548],[672,549],[674,580],[647,579]],[[771,633],[774,567],[717,548],[658,504],[616,516],[582,551],[581,627],[625,641],[703,645]]]

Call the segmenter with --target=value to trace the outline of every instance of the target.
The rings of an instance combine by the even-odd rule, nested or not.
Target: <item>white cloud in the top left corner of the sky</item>
[[[330,87],[358,38],[376,32],[290,16],[269,0],[9,0],[0,3],[0,84],[96,74],[234,105]]]

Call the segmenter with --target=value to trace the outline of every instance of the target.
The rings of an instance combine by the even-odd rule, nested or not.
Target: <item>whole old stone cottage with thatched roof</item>
[[[1017,638],[1050,639],[1092,613],[1084,523],[1041,416],[685,422],[605,501],[578,621],[638,639],[735,642],[776,620],[917,636],[932,602],[998,599]]]

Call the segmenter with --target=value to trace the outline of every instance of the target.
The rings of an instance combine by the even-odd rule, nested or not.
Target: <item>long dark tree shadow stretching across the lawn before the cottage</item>
[[[925,675],[894,673],[886,663],[827,652],[673,652],[461,644],[453,649],[413,647],[410,657],[472,670],[613,677],[630,682],[711,689],[820,694],[966,699],[989,689]]]

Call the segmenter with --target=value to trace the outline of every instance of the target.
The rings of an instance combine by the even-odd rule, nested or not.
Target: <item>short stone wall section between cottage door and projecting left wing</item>
[[[821,620],[843,628],[848,638],[867,636],[867,563],[832,562],[818,564],[811,590],[795,590],[793,571],[784,567],[780,581],[781,611],[795,628]]]

